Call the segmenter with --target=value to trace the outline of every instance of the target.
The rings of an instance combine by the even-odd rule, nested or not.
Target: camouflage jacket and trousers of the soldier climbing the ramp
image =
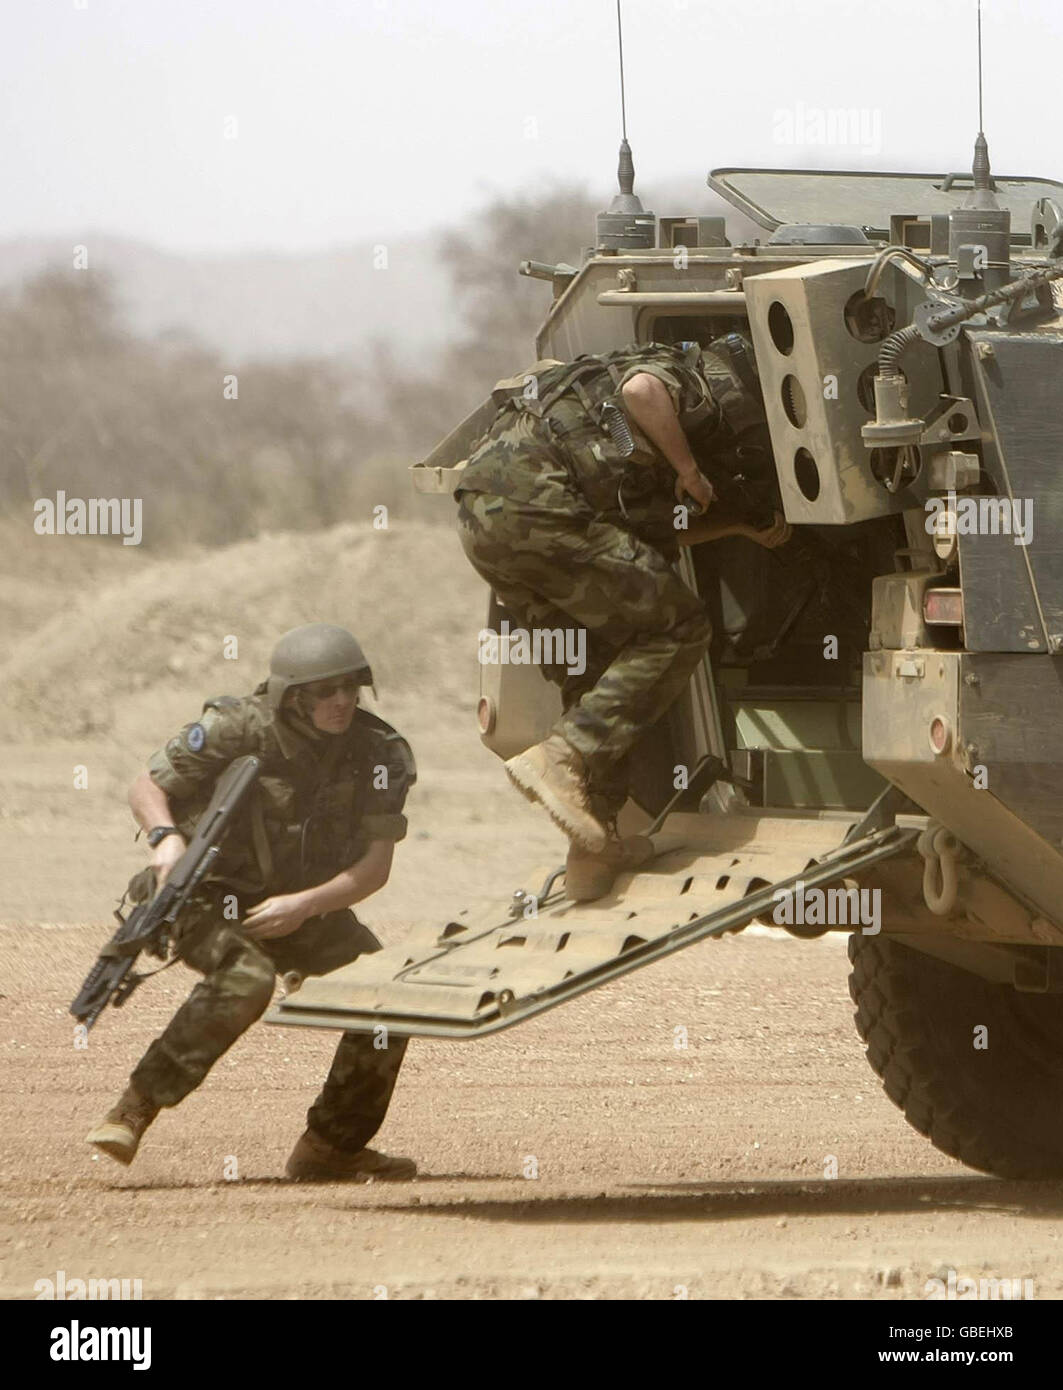
[[[649,373],[668,388],[684,427],[720,418],[704,377],[679,349],[652,343],[628,354],[604,378],[621,409],[624,382]],[[499,386],[521,379],[531,378]],[[627,799],[627,755],[685,688],[711,626],[671,563],[675,471],[629,420],[635,452],[624,457],[595,423],[585,391],[549,395],[539,396],[539,411],[535,395],[510,392],[461,474],[459,535],[514,626],[575,621],[586,630],[586,671],[543,674],[561,687],[564,714],[553,733],[582,755],[592,808],[611,820]]]

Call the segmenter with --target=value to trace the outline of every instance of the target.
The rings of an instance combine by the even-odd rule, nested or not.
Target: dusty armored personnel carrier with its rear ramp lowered
[[[684,552],[716,638],[638,751],[621,827],[650,828],[652,863],[592,903],[563,870],[514,885],[272,1020],[482,1037],[757,919],[842,930],[910,1123],[973,1168],[1062,1176],[1063,185],[994,177],[981,135],[970,175],[717,170],[763,232],[731,245],[723,217],[645,211],[627,145],[620,183],[578,265],[521,267],[553,288],[535,356],[736,335],[770,443],[750,473],[805,559]],[[422,491],[453,489],[493,410]],[[486,626],[504,652],[493,596]],[[482,667],[500,758],[557,708],[534,666]]]

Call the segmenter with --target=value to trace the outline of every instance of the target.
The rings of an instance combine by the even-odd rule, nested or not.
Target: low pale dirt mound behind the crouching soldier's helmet
[[[278,635],[332,621],[360,637],[385,703],[468,709],[484,585],[447,527],[345,524],[145,563],[133,548],[43,538],[0,617],[4,739],[117,735],[142,716],[245,694]],[[49,545],[44,553],[44,545]]]

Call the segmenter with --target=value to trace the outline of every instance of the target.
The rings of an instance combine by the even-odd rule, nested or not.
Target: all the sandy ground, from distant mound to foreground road
[[[193,979],[150,981],[75,1048],[69,999],[143,862],[124,787],[204,695],[250,688],[271,632],[349,621],[381,667],[381,713],[418,755],[410,835],[361,910],[385,941],[504,902],[561,858],[475,737],[461,688],[475,667],[447,634],[482,595],[452,538],[410,542],[445,610],[439,594],[418,610],[402,538],[385,542],[407,585],[400,623],[299,596],[292,575],[314,564],[329,594],[359,592],[375,543],[338,528],[233,548],[232,588],[253,591],[261,569],[275,584],[253,630],[207,603],[210,556],[145,564],[135,585],[106,570],[81,598],[67,585],[64,607],[47,588],[63,575],[42,573],[39,612],[19,607],[0,670],[0,1297],[64,1270],[139,1279],[146,1298],[917,1300],[949,1269],[1059,1297],[1063,1194],[971,1173],[907,1127],[863,1058],[838,937],[755,929],[513,1031],[413,1042],[378,1140],[417,1159],[413,1183],[282,1177],[335,1042],[307,1029],[252,1029],[131,1169],[85,1144]],[[218,655],[233,630],[250,652],[239,671]],[[126,663],[110,685],[108,644]]]

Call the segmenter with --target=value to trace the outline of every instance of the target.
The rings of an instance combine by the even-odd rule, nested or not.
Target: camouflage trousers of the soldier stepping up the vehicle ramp
[[[516,624],[585,628],[585,671],[542,670],[561,687],[564,713],[553,733],[581,753],[592,808],[611,820],[627,799],[631,749],[685,689],[709,646],[700,599],[656,546],[586,505],[568,512],[463,492],[459,535]]]

